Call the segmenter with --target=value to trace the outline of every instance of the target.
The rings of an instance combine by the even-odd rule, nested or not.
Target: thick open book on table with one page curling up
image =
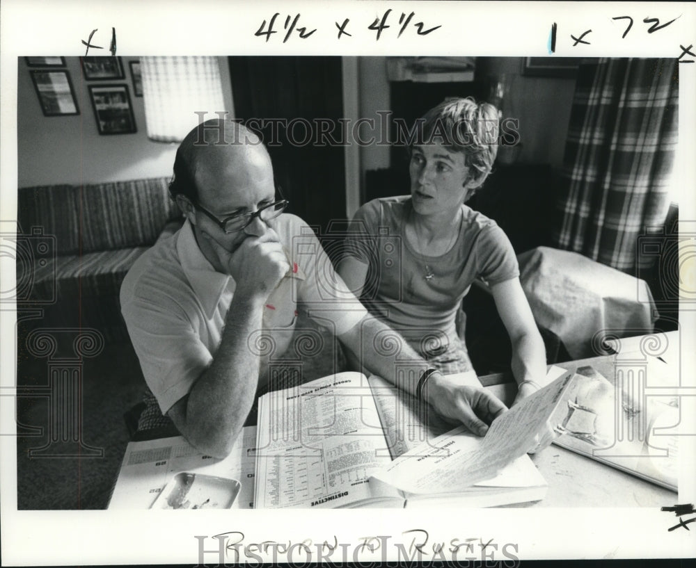
[[[461,380],[477,384],[473,377]],[[546,482],[526,455],[564,414],[570,373],[476,437],[379,377],[340,373],[262,396],[256,508],[487,507],[537,501]]]

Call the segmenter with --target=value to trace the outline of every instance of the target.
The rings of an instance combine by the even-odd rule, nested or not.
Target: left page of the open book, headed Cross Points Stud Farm
[[[258,508],[335,508],[395,497],[367,479],[391,462],[365,377],[339,373],[259,403]]]

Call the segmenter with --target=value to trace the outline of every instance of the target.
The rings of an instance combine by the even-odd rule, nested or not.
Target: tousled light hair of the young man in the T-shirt
[[[450,98],[431,108],[416,123],[414,143],[441,143],[456,152],[464,153],[464,163],[483,183],[493,168],[498,154],[498,109],[471,97]],[[420,135],[420,136],[419,136]]]

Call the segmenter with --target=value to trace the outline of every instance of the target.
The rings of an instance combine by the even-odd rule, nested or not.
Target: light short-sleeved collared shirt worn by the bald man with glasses
[[[290,214],[273,225],[292,272],[271,292],[263,330],[248,338],[249,348],[263,352],[264,342],[270,341],[276,355],[285,352],[297,302],[336,335],[354,327],[367,312],[333,271],[312,229]],[[121,311],[163,414],[189,393],[212,362],[235,287],[234,279],[216,272],[200,252],[188,221],[143,253],[126,275]]]

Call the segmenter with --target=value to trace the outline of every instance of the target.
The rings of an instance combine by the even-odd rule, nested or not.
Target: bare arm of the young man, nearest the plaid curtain
[[[541,382],[546,377],[546,350],[519,278],[493,284],[491,292],[512,342],[512,374],[517,384]],[[536,390],[534,384],[523,383],[515,400]]]

